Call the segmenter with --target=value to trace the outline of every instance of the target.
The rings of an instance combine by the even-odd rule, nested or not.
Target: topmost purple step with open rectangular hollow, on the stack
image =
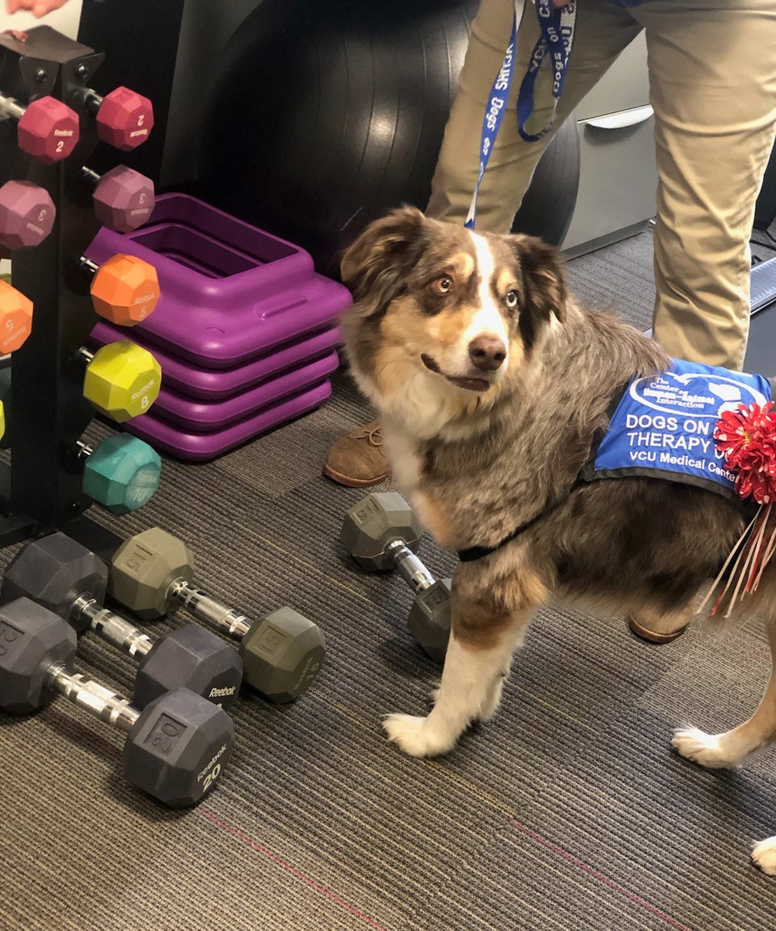
[[[159,276],[154,314],[133,330],[205,369],[234,368],[320,331],[352,303],[315,273],[309,253],[184,194],[157,197],[151,220],[132,233],[102,227],[87,257],[102,263],[117,252]]]

